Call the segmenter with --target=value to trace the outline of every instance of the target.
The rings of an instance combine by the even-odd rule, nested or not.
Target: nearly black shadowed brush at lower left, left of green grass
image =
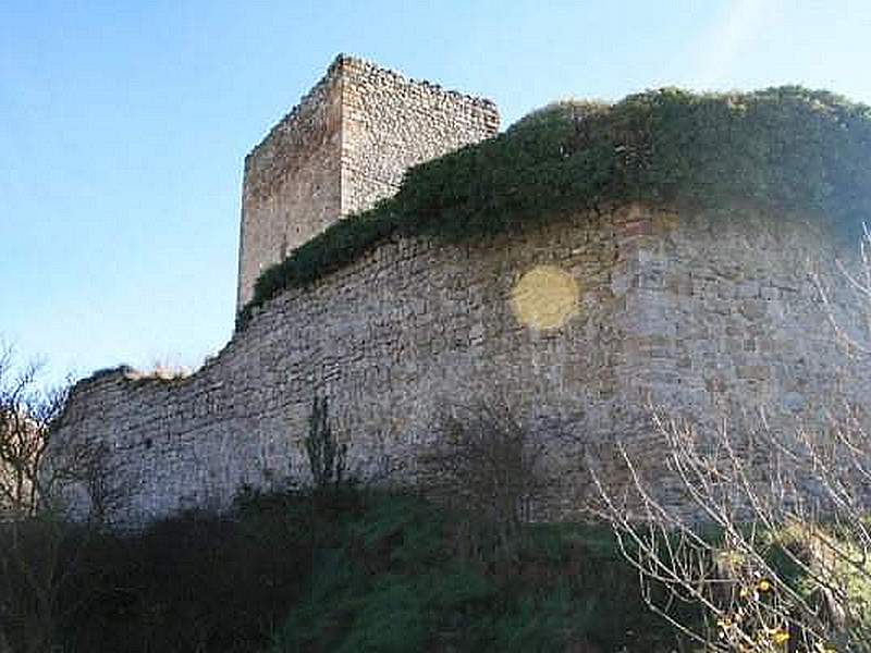
[[[62,651],[262,650],[298,596],[305,519],[189,514],[78,552],[62,603]]]

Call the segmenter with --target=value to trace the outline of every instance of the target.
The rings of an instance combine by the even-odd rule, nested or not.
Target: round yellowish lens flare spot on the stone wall
[[[512,291],[514,315],[538,330],[556,329],[578,312],[580,287],[575,278],[554,266],[537,266]]]

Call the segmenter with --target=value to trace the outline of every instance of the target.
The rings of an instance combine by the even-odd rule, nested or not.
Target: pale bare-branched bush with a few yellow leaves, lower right
[[[861,270],[847,275],[851,308],[866,318],[869,252],[866,233]],[[871,331],[855,316],[845,325],[831,289],[819,279],[818,288],[838,342],[867,365],[862,334]],[[706,651],[871,651],[866,408],[841,396],[815,423],[775,427],[760,414],[702,428],[651,407],[662,457],[654,475],[650,460],[621,444],[628,482],[616,491],[590,460],[601,515],[650,606]],[[664,497],[665,478],[679,498]],[[687,604],[702,618],[678,617]]]

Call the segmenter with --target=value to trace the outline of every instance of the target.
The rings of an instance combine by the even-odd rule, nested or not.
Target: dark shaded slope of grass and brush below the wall
[[[76,552],[63,651],[667,651],[638,580],[601,529],[531,529],[511,563],[414,496],[244,497]],[[468,525],[467,525],[468,526]],[[453,649],[447,649],[447,646]]]

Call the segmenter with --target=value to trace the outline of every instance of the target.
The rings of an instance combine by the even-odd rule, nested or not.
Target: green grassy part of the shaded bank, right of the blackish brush
[[[664,651],[675,641],[608,531],[530,526],[505,577],[495,560],[456,556],[457,525],[443,510],[401,494],[365,504],[323,543],[271,653],[560,651],[578,642]]]

